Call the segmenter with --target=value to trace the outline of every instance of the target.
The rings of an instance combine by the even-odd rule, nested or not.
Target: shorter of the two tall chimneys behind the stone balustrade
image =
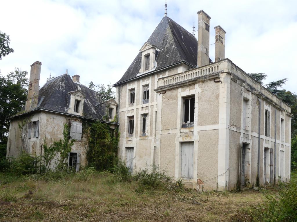
[[[225,59],[225,30],[221,26],[214,27],[216,30],[215,35],[215,50],[214,50],[214,61]]]

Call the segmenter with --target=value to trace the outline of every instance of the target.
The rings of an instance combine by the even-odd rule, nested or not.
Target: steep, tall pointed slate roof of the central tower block
[[[147,43],[160,51],[157,54],[155,70],[186,62],[193,68],[197,66],[197,39],[171,18],[165,16],[151,34]],[[211,63],[209,59],[209,63]],[[141,67],[141,52],[138,53],[121,79],[115,85],[136,77]]]

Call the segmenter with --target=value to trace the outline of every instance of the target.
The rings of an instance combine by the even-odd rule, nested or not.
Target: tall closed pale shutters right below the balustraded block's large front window
[[[181,144],[181,177],[193,178],[194,142]]]

